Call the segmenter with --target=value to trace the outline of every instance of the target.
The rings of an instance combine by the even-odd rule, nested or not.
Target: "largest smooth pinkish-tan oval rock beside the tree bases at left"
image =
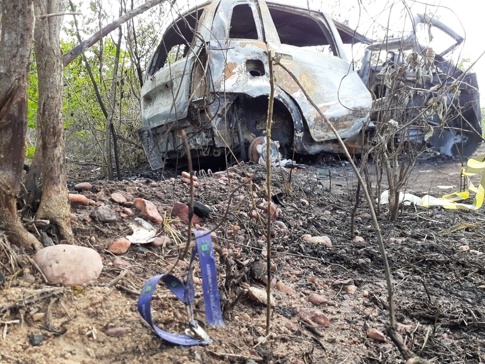
[[[76,245],[54,245],[39,250],[34,260],[48,283],[82,285],[99,277],[101,256],[94,249]]]

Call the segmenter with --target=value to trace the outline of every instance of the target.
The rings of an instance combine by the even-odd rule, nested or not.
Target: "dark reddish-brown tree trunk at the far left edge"
[[[16,205],[24,167],[27,87],[34,30],[32,0],[3,0],[0,38],[0,229],[11,243],[40,249]]]

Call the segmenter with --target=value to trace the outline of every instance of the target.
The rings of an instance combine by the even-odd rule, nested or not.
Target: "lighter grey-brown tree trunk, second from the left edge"
[[[37,16],[64,10],[62,0],[39,0],[35,5]],[[62,119],[64,65],[59,36],[62,20],[63,16],[37,18],[34,33],[39,85],[37,124],[42,157],[42,198],[37,218],[54,222],[62,238],[72,243]]]

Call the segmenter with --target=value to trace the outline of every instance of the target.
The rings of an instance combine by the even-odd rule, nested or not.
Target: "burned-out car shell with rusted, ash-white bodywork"
[[[356,42],[369,44],[368,59],[359,72],[352,69],[344,46]],[[389,88],[382,87],[386,66],[372,65],[370,56],[385,46],[333,22],[324,13],[271,1],[214,0],[188,11],[165,30],[141,90],[139,136],[152,169],[161,168],[164,159],[186,153],[181,130],[198,160],[228,151],[238,159],[251,157],[248,146],[263,139],[260,137],[266,131],[270,51],[289,70],[274,66],[271,137],[280,151],[290,157],[293,153],[342,152],[329,121],[347,148],[359,152],[365,145],[366,131],[376,130],[379,120],[373,121],[371,116],[382,114],[377,112],[379,101],[389,98]],[[393,51],[399,61],[401,50]],[[436,57],[436,62],[440,59]],[[405,62],[395,64],[399,68]],[[389,69],[387,66],[386,72]],[[452,79],[476,86],[472,76],[449,70],[448,78],[440,77],[428,80],[426,87]],[[416,81],[415,75],[413,81],[420,80]],[[302,88],[319,110],[313,108]],[[451,100],[450,104],[456,108],[465,105],[479,116],[478,94],[470,95],[470,100],[460,96],[458,102]],[[418,108],[428,102],[416,96],[405,109],[410,103]],[[408,114],[406,117],[414,117]],[[481,135],[472,111],[465,114],[456,124]],[[441,122],[429,119],[432,124]],[[465,119],[473,128],[463,126]],[[421,134],[417,130],[414,138]],[[461,135],[461,130],[453,134],[453,141]],[[440,143],[438,138],[435,144]],[[477,146],[475,143],[466,151]]]

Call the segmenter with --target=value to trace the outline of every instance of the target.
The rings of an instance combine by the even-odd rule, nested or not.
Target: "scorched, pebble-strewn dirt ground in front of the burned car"
[[[416,166],[408,191],[439,196],[459,189],[460,165],[437,160],[428,158]],[[196,318],[214,340],[212,345],[164,342],[137,311],[144,281],[166,272],[176,258],[174,244],[132,245],[121,255],[128,265],[116,266],[107,248],[131,233],[128,222],[133,218],[88,222],[85,217],[93,207],[72,205],[76,243],[102,255],[103,272],[87,287],[52,287],[31,267],[27,254],[16,251],[16,261],[9,261],[5,252],[0,253],[0,362],[398,363],[399,353],[388,338],[381,342],[369,331],[385,333],[387,294],[365,203],[356,215],[360,238],[349,235],[356,188],[351,170],[345,162],[333,160],[293,170],[291,179],[286,169],[274,169],[272,174],[272,190],[279,196],[272,232],[273,275],[283,289],[273,290],[277,305],[267,342],[258,344],[265,335],[266,307],[245,294],[248,286],[264,289],[257,269],[266,254],[264,220],[248,215],[252,192],[255,209],[261,212],[257,205],[265,197],[266,172],[263,166],[246,164],[201,177],[195,192],[195,199],[212,210],[200,225],[215,229],[219,254],[226,258],[224,263],[217,259],[224,328],[204,325],[202,288],[196,285]],[[252,178],[252,190],[247,177]],[[109,195],[121,191],[150,200],[162,216],[170,216],[174,203],[189,198],[189,188],[177,178],[92,184],[93,190],[83,193],[98,203],[119,208]],[[397,221],[388,221],[384,211],[380,222],[393,274],[398,330],[406,343],[436,363],[482,363],[483,210],[405,206]],[[161,224],[155,226],[168,234],[167,227],[163,231]],[[185,241],[187,224],[173,220],[169,226]],[[305,234],[327,236],[332,247],[309,242]],[[463,246],[471,249],[463,251]],[[186,269],[185,261],[174,274],[183,278]],[[110,286],[122,273],[122,279]],[[182,333],[186,328],[182,303],[162,286],[155,291],[152,310],[155,324],[167,331]],[[315,313],[328,318],[329,326],[308,320]],[[43,335],[39,346],[33,346],[33,334]]]

